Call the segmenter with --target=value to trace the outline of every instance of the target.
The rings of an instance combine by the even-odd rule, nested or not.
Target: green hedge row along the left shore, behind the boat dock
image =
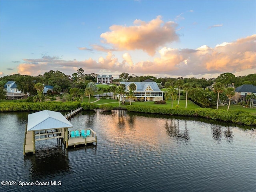
[[[89,104],[90,106],[92,104]],[[86,105],[84,105],[85,107]],[[80,107],[79,102],[22,102],[22,103],[12,103],[3,102],[0,103],[0,111],[41,111],[41,110],[51,110],[51,111],[69,111]],[[87,107],[83,108],[88,110]],[[89,109],[91,109],[89,107]]]

